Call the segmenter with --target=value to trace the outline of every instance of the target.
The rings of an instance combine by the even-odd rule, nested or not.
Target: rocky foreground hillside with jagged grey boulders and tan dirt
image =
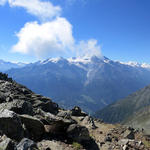
[[[0,80],[0,150],[149,150],[142,131],[105,124],[79,107],[64,110],[13,81]]]

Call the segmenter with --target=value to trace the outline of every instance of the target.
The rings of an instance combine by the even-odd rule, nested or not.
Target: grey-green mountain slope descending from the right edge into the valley
[[[150,134],[150,85],[98,111],[96,116],[109,123],[122,123]]]

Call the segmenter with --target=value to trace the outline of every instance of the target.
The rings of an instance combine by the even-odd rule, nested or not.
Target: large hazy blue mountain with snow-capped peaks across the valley
[[[47,59],[7,72],[17,82],[61,106],[95,112],[150,84],[150,69],[106,57]]]

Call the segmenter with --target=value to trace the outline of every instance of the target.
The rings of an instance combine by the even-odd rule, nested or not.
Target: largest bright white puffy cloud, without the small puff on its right
[[[60,17],[42,24],[26,23],[17,37],[18,43],[12,47],[12,51],[37,57],[67,55],[74,44],[72,25]]]

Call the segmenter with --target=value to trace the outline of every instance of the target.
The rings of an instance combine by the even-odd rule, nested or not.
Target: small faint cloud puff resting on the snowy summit
[[[88,41],[80,41],[77,46],[77,56],[80,57],[92,57],[99,56],[101,57],[101,47],[98,45],[97,40],[90,39]]]

